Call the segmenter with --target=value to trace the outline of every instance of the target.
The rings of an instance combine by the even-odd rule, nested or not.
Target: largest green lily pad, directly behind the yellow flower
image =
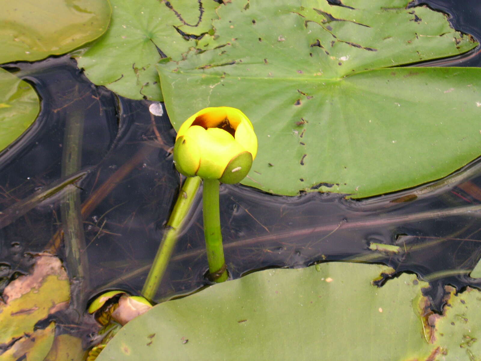
[[[259,138],[242,183],[271,193],[367,197],[453,172],[480,154],[481,70],[386,67],[476,43],[407,2],[222,6],[206,51],[158,65],[172,124],[207,106],[240,108]]]

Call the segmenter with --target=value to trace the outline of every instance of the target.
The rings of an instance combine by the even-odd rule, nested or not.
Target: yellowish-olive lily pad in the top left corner
[[[108,0],[1,0],[0,64],[69,52],[100,37],[110,20]]]

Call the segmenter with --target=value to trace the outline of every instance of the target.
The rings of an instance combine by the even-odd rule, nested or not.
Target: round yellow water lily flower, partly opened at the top
[[[257,137],[251,121],[239,109],[205,108],[180,127],[174,146],[174,163],[187,177],[241,181],[257,154]]]

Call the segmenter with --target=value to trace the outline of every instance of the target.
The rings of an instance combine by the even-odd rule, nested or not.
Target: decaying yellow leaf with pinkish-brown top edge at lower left
[[[68,306],[69,280],[60,259],[48,254],[38,255],[31,274],[8,284],[2,298],[0,344],[8,344],[15,338],[31,334],[38,321]]]

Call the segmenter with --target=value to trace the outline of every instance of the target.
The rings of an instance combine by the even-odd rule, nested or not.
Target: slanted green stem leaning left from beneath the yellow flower
[[[199,177],[188,177],[180,189],[176,204],[167,222],[167,230],[162,237],[159,249],[152,263],[149,275],[142,288],[142,296],[148,300],[153,300],[159,288],[165,270],[172,255],[172,251],[177,242],[179,232],[190,211],[190,207],[201,185]]]

